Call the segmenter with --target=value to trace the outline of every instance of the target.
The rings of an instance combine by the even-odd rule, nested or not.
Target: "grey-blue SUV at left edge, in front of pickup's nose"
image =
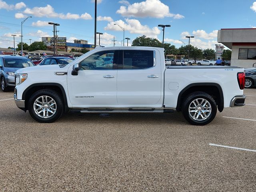
[[[0,55],[0,84],[3,92],[8,87],[15,87],[15,72],[24,67],[35,66],[28,58],[21,56]]]

